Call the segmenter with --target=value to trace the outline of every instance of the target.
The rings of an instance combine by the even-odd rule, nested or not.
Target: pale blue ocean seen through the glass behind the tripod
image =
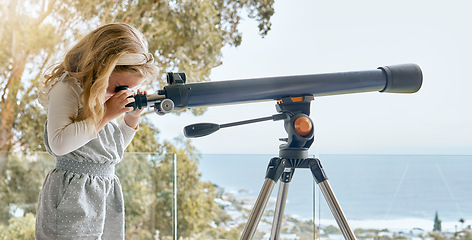
[[[202,180],[238,197],[257,197],[272,155],[204,154]],[[436,212],[443,230],[472,224],[472,156],[319,155],[351,228],[423,228]],[[277,198],[278,184],[271,199]],[[274,200],[275,201],[275,200]],[[269,207],[269,206],[268,206]],[[310,170],[297,169],[285,215],[335,224]],[[460,223],[464,219],[465,223]],[[354,226],[353,226],[354,225]]]

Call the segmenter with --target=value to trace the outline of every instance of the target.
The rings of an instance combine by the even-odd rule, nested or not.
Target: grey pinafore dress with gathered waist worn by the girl
[[[47,124],[47,123],[46,123]],[[47,128],[46,128],[47,129]],[[55,155],[39,196],[36,239],[124,239],[124,203],[115,164],[124,138],[114,122],[66,155]]]

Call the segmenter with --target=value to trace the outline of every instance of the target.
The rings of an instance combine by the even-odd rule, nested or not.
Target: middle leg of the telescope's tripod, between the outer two
[[[277,203],[275,205],[274,221],[272,221],[272,231],[270,234],[270,240],[278,240],[280,237],[280,231],[282,229],[282,220],[285,211],[285,204],[287,202],[288,187],[292,176],[295,172],[295,168],[286,168],[282,174],[280,181],[279,193],[277,195]]]

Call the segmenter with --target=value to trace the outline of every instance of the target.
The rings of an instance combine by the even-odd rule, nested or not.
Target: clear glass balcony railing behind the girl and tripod
[[[126,153],[116,168],[126,239],[240,239],[272,157]],[[358,239],[472,239],[472,156],[317,157]],[[55,159],[12,153],[6,161],[0,240],[34,239],[38,194]],[[270,237],[278,184],[253,239]],[[284,209],[280,239],[343,239],[308,169],[295,170]]]

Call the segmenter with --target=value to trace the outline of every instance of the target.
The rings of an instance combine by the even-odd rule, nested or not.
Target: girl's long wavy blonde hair
[[[71,119],[97,124],[105,113],[103,100],[113,72],[132,72],[142,78],[157,75],[152,60],[137,63],[139,65],[117,65],[120,57],[130,53],[148,55],[148,44],[143,34],[125,23],[103,25],[82,38],[69,50],[64,61],[45,76],[45,88],[51,88],[55,79],[68,72],[83,89],[80,96],[82,109]]]

